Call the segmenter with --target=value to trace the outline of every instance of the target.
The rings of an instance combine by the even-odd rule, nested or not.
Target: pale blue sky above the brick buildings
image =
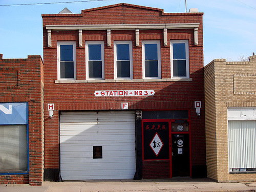
[[[67,7],[73,13],[83,9],[128,3],[185,12],[185,0],[134,1],[111,0],[82,3],[1,6],[10,4],[73,2],[81,0],[0,0],[0,53],[3,58],[27,58],[42,54],[41,14],[56,14]],[[255,0],[187,0],[187,11],[198,8],[203,15],[204,63],[226,58],[237,61],[240,56],[256,53]]]

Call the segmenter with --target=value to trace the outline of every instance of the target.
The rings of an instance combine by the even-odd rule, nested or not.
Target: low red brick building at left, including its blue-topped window
[[[44,79],[39,55],[0,54],[0,184],[41,185]]]

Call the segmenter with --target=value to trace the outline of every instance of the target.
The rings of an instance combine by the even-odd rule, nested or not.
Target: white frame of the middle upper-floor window
[[[117,77],[117,44],[129,44],[129,54],[130,54],[130,77]],[[114,78],[115,79],[133,79],[133,41],[118,40],[114,41]]]

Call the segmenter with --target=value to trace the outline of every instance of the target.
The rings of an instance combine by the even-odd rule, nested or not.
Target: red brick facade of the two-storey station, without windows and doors
[[[82,10],[81,14],[42,15],[44,28],[44,83],[45,109],[48,103],[55,103],[53,118],[45,113],[45,169],[59,168],[59,112],[121,110],[121,103],[128,102],[129,110],[177,110],[190,111],[191,165],[205,165],[204,125],[204,76],[203,76],[203,13],[164,13],[161,9],[117,4]],[[164,45],[163,29],[139,30],[139,46],[135,45],[134,29],[111,29],[111,46],[107,45],[106,30],[82,30],[82,46],[79,47],[78,30],[51,30],[51,46],[46,26],[50,25],[108,25],[108,24],[199,24],[198,45],[195,45],[193,29],[168,29],[167,46]],[[188,40],[189,80],[171,78],[170,41]],[[86,81],[85,44],[89,40],[104,41],[104,80]],[[114,50],[116,40],[133,42],[133,80],[114,81]],[[142,80],[142,41],[161,42],[161,79]],[[57,42],[76,42],[76,80],[58,81]],[[79,80],[81,80],[79,82]],[[150,97],[96,97],[96,90],[154,90]],[[197,116],[194,102],[202,101],[201,116]],[[147,169],[154,164],[144,165]],[[157,165],[156,165],[157,166]],[[163,165],[163,169],[164,165]],[[158,172],[158,178],[164,178]],[[167,174],[168,175],[168,174]]]

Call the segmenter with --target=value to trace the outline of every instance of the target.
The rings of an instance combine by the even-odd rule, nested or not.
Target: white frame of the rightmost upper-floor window
[[[185,54],[186,54],[186,76],[174,76],[174,66],[173,66],[173,44],[184,44],[185,43]],[[189,46],[188,40],[170,40],[170,68],[171,68],[171,78],[181,79],[189,78]]]

